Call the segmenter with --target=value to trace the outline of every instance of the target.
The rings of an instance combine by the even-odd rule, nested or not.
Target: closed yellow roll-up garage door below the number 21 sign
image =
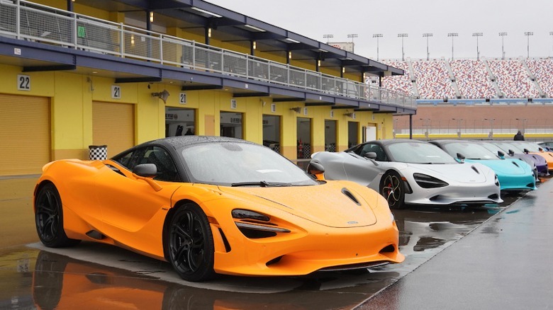
[[[92,143],[107,145],[108,158],[135,145],[135,110],[128,103],[92,104]]]

